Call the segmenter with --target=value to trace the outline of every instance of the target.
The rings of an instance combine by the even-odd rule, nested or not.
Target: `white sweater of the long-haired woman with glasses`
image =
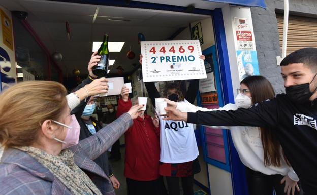
[[[183,112],[197,111],[215,111],[215,110],[236,110],[238,107],[235,104],[227,104],[219,109],[208,109],[195,106],[189,102],[177,103],[176,109]],[[207,126],[208,127],[208,126]],[[242,163],[248,168],[259,171],[266,175],[288,175],[293,181],[299,181],[297,174],[292,167],[289,167],[282,158],[281,166],[265,166],[264,151],[261,141],[259,127],[211,127],[230,129],[233,143],[238,151]]]

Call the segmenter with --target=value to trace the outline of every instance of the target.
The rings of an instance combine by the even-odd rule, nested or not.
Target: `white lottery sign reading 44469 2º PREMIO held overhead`
[[[141,42],[143,81],[205,79],[199,40]]]

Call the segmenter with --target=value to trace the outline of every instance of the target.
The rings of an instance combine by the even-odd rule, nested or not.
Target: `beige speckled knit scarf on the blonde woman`
[[[102,195],[91,179],[75,164],[74,153],[65,149],[58,156],[31,146],[16,147],[46,167],[75,195]]]

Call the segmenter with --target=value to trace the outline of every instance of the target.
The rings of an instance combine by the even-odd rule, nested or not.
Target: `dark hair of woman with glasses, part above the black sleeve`
[[[271,83],[263,76],[245,77],[240,84],[249,88],[253,104],[272,99],[275,96]]]

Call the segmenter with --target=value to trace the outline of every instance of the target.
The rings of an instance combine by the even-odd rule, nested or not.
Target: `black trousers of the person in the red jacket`
[[[137,181],[126,178],[128,195],[167,195],[163,177],[152,181]]]

